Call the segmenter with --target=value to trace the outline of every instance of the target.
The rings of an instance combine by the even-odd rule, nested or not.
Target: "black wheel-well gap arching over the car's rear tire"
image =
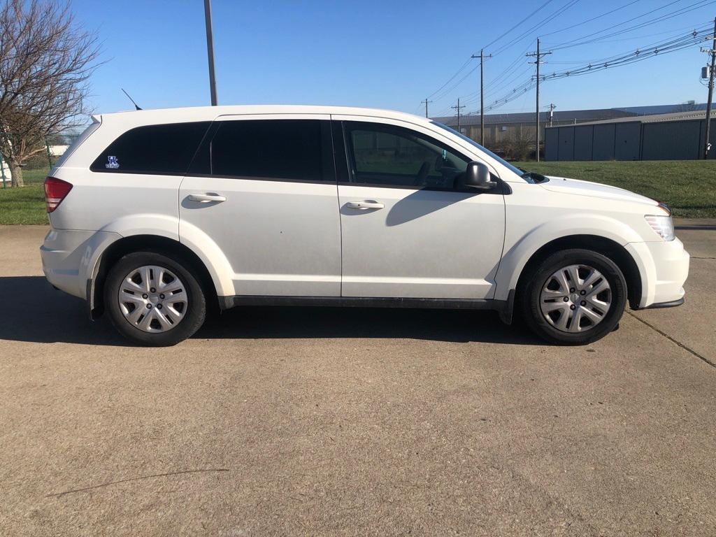
[[[197,277],[204,291],[207,305],[212,308],[218,306],[216,283],[205,263],[195,251],[173,238],[139,234],[117,239],[102,252],[93,271],[92,278],[87,280],[87,306],[90,318],[97,319],[104,313],[104,287],[107,273],[112,265],[127,253],[136,251],[163,253],[188,261],[193,275]]]

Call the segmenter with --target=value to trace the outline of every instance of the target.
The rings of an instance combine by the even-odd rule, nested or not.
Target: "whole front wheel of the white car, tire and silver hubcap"
[[[519,306],[538,337],[554,344],[585,345],[619,325],[627,305],[627,281],[608,257],[591,250],[563,250],[531,272]]]

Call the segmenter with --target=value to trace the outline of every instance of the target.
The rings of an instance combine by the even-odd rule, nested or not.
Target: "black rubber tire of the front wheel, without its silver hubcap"
[[[563,266],[585,264],[604,275],[611,286],[611,308],[606,317],[593,329],[578,334],[561,332],[544,318],[540,307],[542,287],[547,279]],[[570,249],[553,253],[539,263],[522,293],[522,314],[526,324],[542,339],[556,344],[584,345],[612,332],[627,306],[627,281],[619,266],[601,253]]]

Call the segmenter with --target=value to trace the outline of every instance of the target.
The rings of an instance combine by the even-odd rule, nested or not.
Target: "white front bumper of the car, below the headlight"
[[[637,309],[679,306],[684,302],[684,282],[689,276],[689,253],[678,238],[673,241],[629,243],[627,251],[642,277]]]

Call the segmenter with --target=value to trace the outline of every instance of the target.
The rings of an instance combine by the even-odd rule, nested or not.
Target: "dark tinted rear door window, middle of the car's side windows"
[[[211,174],[223,177],[332,180],[329,122],[221,122],[211,141]]]

